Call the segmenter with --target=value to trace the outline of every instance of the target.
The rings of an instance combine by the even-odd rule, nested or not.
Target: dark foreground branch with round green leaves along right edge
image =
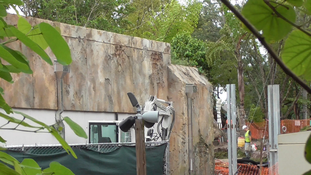
[[[248,0],[242,9],[242,14],[228,0],[221,0],[221,2],[243,22],[247,30],[258,38],[283,71],[311,94],[311,88],[298,77],[303,76],[304,79],[311,80],[311,34],[295,24],[296,13],[294,10],[294,7],[304,5],[305,15],[309,15],[311,1]],[[293,27],[298,30],[292,31]],[[290,31],[292,32],[290,33]],[[284,39],[287,35],[284,48],[281,51],[283,62],[268,42]],[[311,135],[305,146],[305,158],[311,163]],[[304,174],[310,173],[311,170]]]

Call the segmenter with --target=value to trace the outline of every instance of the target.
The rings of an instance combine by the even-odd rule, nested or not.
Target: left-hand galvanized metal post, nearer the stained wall
[[[237,168],[237,138],[235,84],[227,84],[227,121],[228,121],[228,159],[229,175],[234,175]],[[232,121],[232,122],[231,122]]]

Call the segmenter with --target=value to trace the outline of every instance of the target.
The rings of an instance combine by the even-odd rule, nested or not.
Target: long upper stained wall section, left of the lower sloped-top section
[[[144,102],[150,94],[166,99],[166,67],[170,64],[170,45],[142,38],[99,31],[80,26],[26,17],[31,25],[47,22],[60,28],[72,52],[70,73],[64,78],[64,109],[77,111],[132,112],[127,92]],[[16,25],[18,17],[5,17]],[[57,109],[57,87],[53,66],[20,42],[10,43],[30,59],[32,75],[15,75],[14,84],[1,82],[10,93],[10,106]],[[46,50],[50,57],[54,56]],[[139,87],[139,88],[135,88]],[[19,89],[19,95],[13,90]]]

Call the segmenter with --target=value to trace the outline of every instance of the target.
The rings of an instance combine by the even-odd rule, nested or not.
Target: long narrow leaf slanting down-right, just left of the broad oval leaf
[[[31,50],[33,50],[35,53],[37,53],[42,59],[44,59],[47,63],[50,65],[53,65],[50,57],[48,54],[45,53],[45,51],[34,41],[32,41],[30,38],[28,38],[25,34],[23,34],[21,31],[17,30],[15,27],[10,27],[9,30],[26,46],[28,46]]]

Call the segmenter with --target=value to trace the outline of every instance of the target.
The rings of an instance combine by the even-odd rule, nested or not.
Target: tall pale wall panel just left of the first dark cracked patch
[[[95,41],[86,42],[88,110],[114,111],[111,96],[110,45]]]

